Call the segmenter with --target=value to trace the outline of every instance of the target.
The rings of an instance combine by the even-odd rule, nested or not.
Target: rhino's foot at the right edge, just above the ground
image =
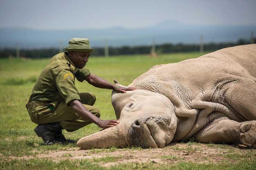
[[[240,142],[247,147],[256,148],[256,121],[243,122],[239,130]]]

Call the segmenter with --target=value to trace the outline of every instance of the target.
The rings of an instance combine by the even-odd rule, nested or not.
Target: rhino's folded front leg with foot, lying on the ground
[[[237,122],[227,117],[214,119],[194,135],[204,143],[242,143],[256,148],[256,121]]]

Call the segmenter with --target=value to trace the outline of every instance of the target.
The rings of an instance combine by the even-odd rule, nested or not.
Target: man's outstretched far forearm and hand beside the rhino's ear
[[[98,76],[96,76],[92,73],[90,75],[86,76],[85,80],[89,84],[92,84],[93,86],[99,87],[99,88],[102,88],[102,89],[112,89],[112,90],[120,91],[120,92],[123,92],[123,93],[125,93],[126,91],[136,90],[133,87],[128,87],[128,88],[118,87],[117,88],[117,85],[112,84],[112,83],[108,82],[107,80],[104,80],[104,79],[102,79],[102,78],[100,78],[100,77],[98,77]]]

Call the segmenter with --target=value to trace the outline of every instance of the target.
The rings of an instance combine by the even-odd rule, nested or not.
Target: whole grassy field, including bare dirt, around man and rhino
[[[91,57],[86,68],[113,82],[128,85],[156,64],[179,62],[200,53],[148,56]],[[163,149],[109,148],[79,150],[75,143],[43,145],[33,129],[25,104],[49,59],[0,60],[0,169],[256,169],[256,151],[240,146],[173,143]],[[76,81],[80,92],[93,92],[102,119],[115,119],[111,90]],[[73,140],[99,131],[90,124],[64,135]]]

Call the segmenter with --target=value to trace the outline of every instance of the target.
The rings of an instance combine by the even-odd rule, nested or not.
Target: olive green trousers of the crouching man
[[[93,93],[79,93],[81,103],[92,114],[100,117],[100,110],[93,106],[96,97]],[[90,123],[89,120],[84,120],[70,106],[67,106],[65,101],[60,102],[40,102],[31,101],[26,104],[30,119],[36,124],[46,124],[52,122],[60,122],[63,129],[68,132],[78,130]]]

